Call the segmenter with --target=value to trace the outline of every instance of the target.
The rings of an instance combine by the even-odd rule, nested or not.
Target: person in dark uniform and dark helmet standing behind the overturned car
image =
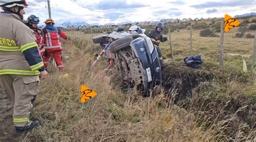
[[[160,42],[167,41],[167,37],[163,37],[161,31],[164,29],[163,23],[157,23],[156,28],[147,33],[147,36],[150,37],[155,45],[157,45],[157,52],[159,55],[160,62],[163,63],[163,57],[161,53],[161,49],[159,48]]]

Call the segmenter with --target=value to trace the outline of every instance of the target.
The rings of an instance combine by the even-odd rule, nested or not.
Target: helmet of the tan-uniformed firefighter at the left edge
[[[24,8],[28,7],[29,4],[25,0],[0,0],[0,6],[5,6],[6,8],[11,8],[14,6],[22,6]]]

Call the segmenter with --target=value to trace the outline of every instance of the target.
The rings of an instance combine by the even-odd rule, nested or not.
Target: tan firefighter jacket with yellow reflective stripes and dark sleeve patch
[[[39,75],[44,67],[32,30],[14,13],[1,12],[0,21],[0,75]]]

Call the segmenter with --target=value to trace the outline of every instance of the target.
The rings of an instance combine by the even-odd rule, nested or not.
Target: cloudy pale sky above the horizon
[[[41,24],[48,18],[46,0],[26,0],[26,19],[36,15]],[[57,25],[64,22],[107,24],[159,21],[167,18],[224,17],[256,12],[256,0],[51,0],[51,14]]]

